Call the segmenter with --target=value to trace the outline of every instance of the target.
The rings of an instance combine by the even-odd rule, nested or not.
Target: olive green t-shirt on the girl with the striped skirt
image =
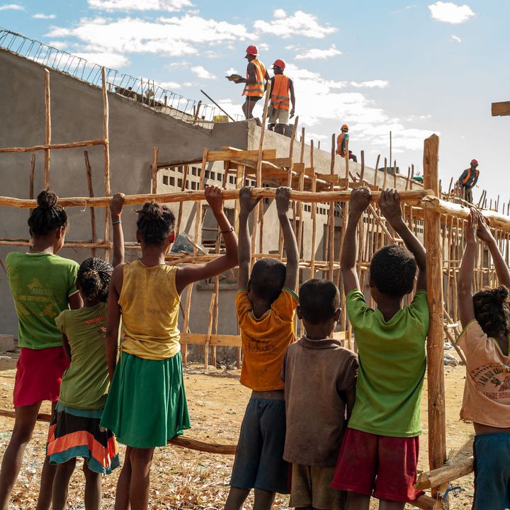
[[[103,409],[108,393],[106,303],[64,310],[55,322],[71,348],[71,365],[62,375],[60,402],[74,409]]]

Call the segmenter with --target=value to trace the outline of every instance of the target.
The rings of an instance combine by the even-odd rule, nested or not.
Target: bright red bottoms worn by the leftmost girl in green
[[[14,407],[28,406],[42,400],[57,402],[62,374],[68,366],[63,347],[22,347],[16,364]]]

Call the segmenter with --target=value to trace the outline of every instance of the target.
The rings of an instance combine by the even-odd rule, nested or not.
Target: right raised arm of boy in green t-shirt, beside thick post
[[[382,191],[379,205],[384,217],[416,259],[416,266],[418,266],[416,289],[426,289],[426,251],[424,245],[411,232],[402,218],[399,192],[396,189]]]

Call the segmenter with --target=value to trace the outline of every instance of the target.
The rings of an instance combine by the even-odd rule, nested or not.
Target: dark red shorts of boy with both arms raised
[[[348,428],[331,487],[378,499],[412,501],[424,494],[414,489],[418,450],[418,436],[376,436]]]

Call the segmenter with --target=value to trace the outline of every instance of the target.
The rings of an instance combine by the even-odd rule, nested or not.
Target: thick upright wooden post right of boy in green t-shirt
[[[424,187],[439,196],[439,137],[424,141]],[[446,416],[443,373],[443,259],[441,251],[441,215],[425,210],[425,248],[430,325],[427,341],[427,384],[429,388],[429,465],[446,462]]]

